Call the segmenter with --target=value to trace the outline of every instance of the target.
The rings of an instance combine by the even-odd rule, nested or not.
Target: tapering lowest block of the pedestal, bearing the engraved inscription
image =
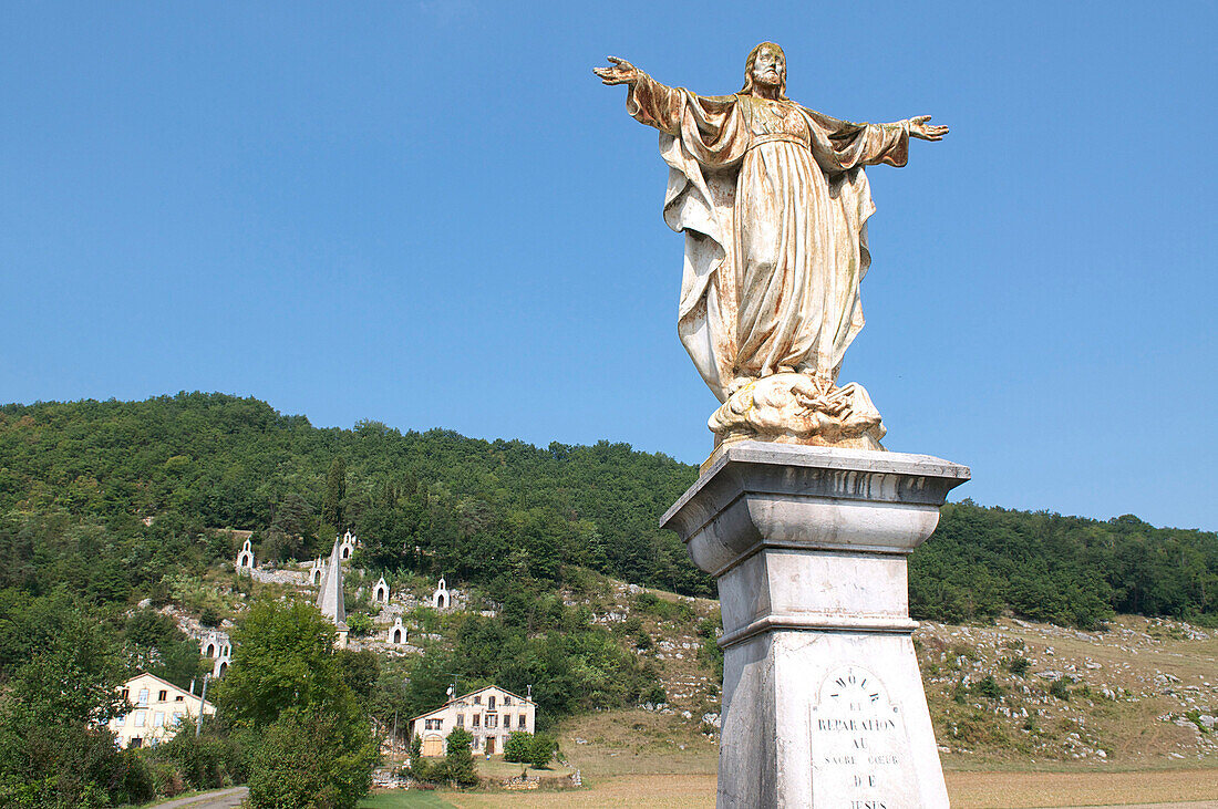
[[[769,630],[723,695],[719,807],[948,807],[907,634]]]

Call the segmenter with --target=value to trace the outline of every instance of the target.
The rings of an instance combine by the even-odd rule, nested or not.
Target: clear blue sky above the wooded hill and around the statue
[[[1209,4],[12,4],[0,401],[256,395],[698,462],[682,237],[624,90],[951,134],[868,172],[842,381],[984,504],[1218,528]]]

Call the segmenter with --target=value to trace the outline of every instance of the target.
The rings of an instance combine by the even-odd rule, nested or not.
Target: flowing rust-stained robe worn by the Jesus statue
[[[677,328],[726,401],[780,371],[837,380],[871,264],[864,165],[905,165],[909,124],[854,124],[792,101],[698,96],[646,74],[627,112],[660,130],[664,220],[686,234]]]

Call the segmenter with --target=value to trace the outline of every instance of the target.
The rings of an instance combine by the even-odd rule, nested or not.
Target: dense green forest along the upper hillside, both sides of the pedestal
[[[63,583],[121,601],[227,558],[207,528],[253,530],[259,558],[286,560],[350,527],[375,568],[443,573],[492,595],[558,582],[564,564],[713,595],[657,526],[695,478],[626,444],[537,448],[371,421],[319,429],[223,394],[5,405],[0,588]],[[1012,612],[1086,628],[1122,612],[1212,624],[1218,535],[966,500],[915,552],[910,597],[915,617],[939,620]]]

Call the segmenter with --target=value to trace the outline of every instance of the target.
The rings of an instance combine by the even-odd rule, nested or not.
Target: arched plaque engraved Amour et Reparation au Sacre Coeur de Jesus
[[[917,807],[905,717],[878,676],[861,665],[831,670],[816,692],[811,720],[817,807]]]

